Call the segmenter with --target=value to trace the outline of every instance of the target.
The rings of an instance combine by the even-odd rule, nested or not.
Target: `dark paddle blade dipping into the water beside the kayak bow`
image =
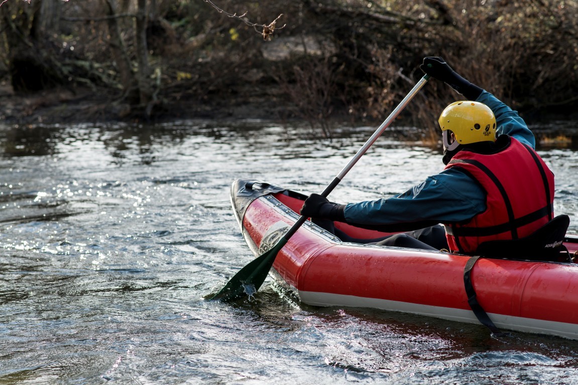
[[[210,297],[209,300],[233,301],[245,296],[251,296],[265,282],[269,270],[275,262],[277,253],[287,243],[285,238],[281,238],[275,246],[269,251],[262,253],[260,256],[249,262],[233,278],[229,279],[227,285],[217,294]]]

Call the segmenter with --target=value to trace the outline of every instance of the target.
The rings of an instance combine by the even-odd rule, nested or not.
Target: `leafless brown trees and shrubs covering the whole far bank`
[[[382,119],[441,55],[515,109],[564,115],[577,15],[575,0],[9,0],[0,77],[17,93],[91,89],[121,118],[250,113],[330,136],[334,118]],[[433,128],[456,97],[432,81],[404,117]]]

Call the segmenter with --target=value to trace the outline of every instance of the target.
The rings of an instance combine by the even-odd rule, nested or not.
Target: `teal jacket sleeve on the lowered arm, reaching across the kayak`
[[[393,232],[467,222],[484,210],[486,192],[454,167],[428,177],[405,193],[347,204],[344,215],[351,225]]]

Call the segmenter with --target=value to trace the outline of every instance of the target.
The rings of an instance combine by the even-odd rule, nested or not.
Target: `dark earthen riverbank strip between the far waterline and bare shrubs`
[[[142,115],[131,114],[129,106],[123,102],[110,100],[106,90],[98,89],[64,89],[55,88],[34,94],[14,94],[12,89],[0,85],[0,120],[9,125],[36,124],[77,124],[85,122],[125,122],[159,123],[184,119],[209,119],[227,121],[229,119],[263,119],[268,121],[307,121],[302,116],[292,113],[290,102],[280,96],[275,99],[271,95],[261,98],[250,96],[222,96],[215,100],[199,102],[195,98],[173,100],[162,104],[157,114],[145,119]],[[456,96],[459,96],[456,94]],[[578,109],[568,107],[551,107],[549,109],[519,110],[520,115],[528,124],[551,121],[577,121]],[[346,113],[335,112],[328,117],[330,121],[351,122],[351,124],[379,124],[389,113],[382,111],[376,117],[355,118]],[[421,125],[414,118],[405,115],[405,121],[418,129],[427,130],[427,125]],[[313,126],[321,126],[324,122],[309,120]],[[330,124],[329,124],[330,125]]]

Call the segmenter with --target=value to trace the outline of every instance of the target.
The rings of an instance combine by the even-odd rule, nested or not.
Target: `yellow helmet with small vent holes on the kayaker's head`
[[[471,100],[451,103],[439,116],[443,147],[449,151],[460,144],[496,140],[496,118],[490,107]],[[450,132],[455,141],[450,143]]]

